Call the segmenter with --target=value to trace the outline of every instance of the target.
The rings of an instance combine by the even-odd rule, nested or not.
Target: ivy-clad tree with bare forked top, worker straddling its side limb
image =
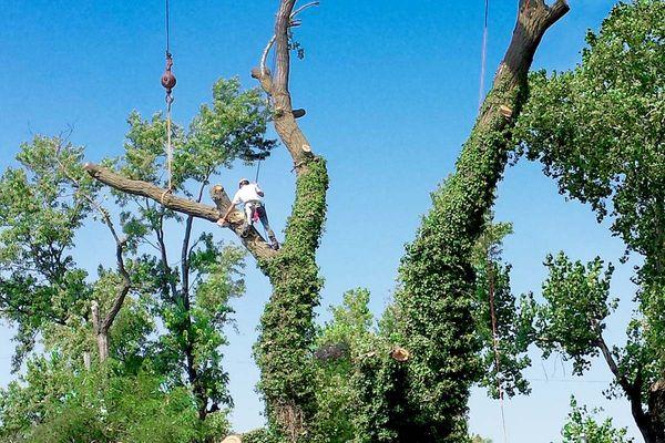
[[[314,342],[314,308],[319,302],[323,285],[316,264],[316,250],[326,217],[328,174],[325,161],[315,155],[294,114],[290,91],[290,51],[297,48],[291,30],[296,16],[311,3],[295,8],[295,0],[280,0],[275,22],[275,33],[269,40],[259,68],[253,71],[270,97],[275,130],[290,154],[296,173],[296,196],[285,229],[285,240],[279,251],[273,250],[260,235],[252,229],[243,235],[244,217],[234,212],[229,228],[256,258],[259,269],[268,277],[273,295],[266,305],[260,323],[260,337],[255,352],[262,370],[259,389],[266,401],[268,421],[273,430],[288,441],[306,439],[310,421],[316,413],[313,388],[310,348]],[[266,69],[269,51],[275,51],[276,71]],[[214,140],[214,126],[207,136]],[[202,140],[192,137],[187,146],[195,148]],[[223,148],[223,146],[217,146]],[[162,144],[156,147],[162,151]],[[177,146],[176,146],[177,150]],[[177,155],[177,154],[176,154]],[[186,162],[182,163],[186,171]],[[152,199],[164,209],[217,222],[231,202],[219,185],[212,188],[216,207],[201,203],[201,198],[177,196],[155,184],[151,177],[127,176],[122,171],[89,164],[88,172],[98,181],[121,193]]]

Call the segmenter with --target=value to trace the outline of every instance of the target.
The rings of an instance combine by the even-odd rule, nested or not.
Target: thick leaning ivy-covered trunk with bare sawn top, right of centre
[[[471,250],[508,162],[511,130],[526,100],[535,50],[567,10],[563,0],[552,7],[542,0],[520,1],[512,41],[457,171],[433,194],[433,206],[407,247],[396,305],[400,344],[411,354],[402,381],[408,400],[391,406],[391,420],[367,423],[387,426],[387,436],[374,441],[467,440],[469,391],[479,377]],[[400,411],[408,415],[395,420]]]

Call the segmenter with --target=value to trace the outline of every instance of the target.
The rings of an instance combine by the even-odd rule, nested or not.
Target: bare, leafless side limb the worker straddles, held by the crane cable
[[[196,218],[203,218],[208,222],[216,223],[221,217],[221,210],[226,210],[231,205],[231,199],[224,192],[224,187],[217,185],[214,186],[217,189],[219,203],[217,207],[204,205],[202,203],[193,202],[187,198],[177,197],[152,183],[135,181],[126,178],[106,167],[94,165],[91,163],[85,164],[85,171],[95,179],[109,185],[117,190],[122,190],[126,194],[137,195],[145,198],[150,198],[165,208],[176,210],[182,214],[191,215]],[[265,239],[254,228],[250,228],[245,237],[243,234],[243,225],[245,218],[238,212],[233,212],[229,216],[229,228],[241,238],[241,241],[249,250],[249,253],[258,260],[265,260],[274,258],[277,251],[273,250],[265,241]]]

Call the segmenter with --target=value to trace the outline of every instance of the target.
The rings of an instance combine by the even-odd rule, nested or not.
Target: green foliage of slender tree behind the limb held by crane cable
[[[215,83],[212,104],[201,107],[188,130],[174,126],[173,190],[201,202],[209,181],[222,168],[238,159],[252,162],[267,156],[275,146],[274,141],[264,137],[268,117],[258,90],[241,91],[237,79]],[[163,116],[144,121],[133,113],[129,124],[125,153],[115,162],[120,172],[166,186]],[[140,253],[132,264],[135,286],[165,329],[149,347],[151,359],[170,385],[191,385],[202,418],[208,409],[233,404],[221,348],[227,343],[223,328],[233,315],[229,302],[245,289],[244,253],[215,243],[209,233],[193,238],[193,217],[183,218],[157,203],[129,194],[113,194],[122,208],[129,246]],[[177,250],[180,266],[170,265],[165,231],[171,223],[183,233]],[[145,245],[154,249],[143,249]]]

